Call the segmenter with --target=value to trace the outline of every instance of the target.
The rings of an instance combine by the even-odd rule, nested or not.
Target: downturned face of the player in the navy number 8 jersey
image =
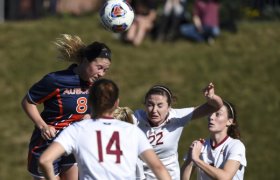
[[[109,70],[111,62],[107,58],[96,58],[92,62],[84,61],[85,78],[89,82],[94,82],[103,77]]]

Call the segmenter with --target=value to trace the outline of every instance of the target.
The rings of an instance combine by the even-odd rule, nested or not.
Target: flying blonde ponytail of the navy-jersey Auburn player
[[[54,43],[59,51],[58,59],[78,64],[82,62],[86,45],[79,36],[62,34]]]

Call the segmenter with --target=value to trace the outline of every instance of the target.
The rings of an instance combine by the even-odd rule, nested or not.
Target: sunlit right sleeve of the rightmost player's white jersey
[[[236,141],[229,149],[228,160],[239,161],[243,166],[247,165],[245,157],[245,146],[241,141]]]

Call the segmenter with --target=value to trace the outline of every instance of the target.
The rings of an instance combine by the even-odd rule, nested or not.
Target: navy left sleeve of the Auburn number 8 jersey
[[[28,91],[28,100],[33,104],[40,104],[56,93],[55,78],[50,74],[44,76]]]

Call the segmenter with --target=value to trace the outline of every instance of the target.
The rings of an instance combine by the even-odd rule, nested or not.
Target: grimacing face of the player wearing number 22
[[[147,117],[153,126],[159,126],[163,123],[170,109],[167,103],[167,97],[159,94],[151,94],[148,96],[145,107]]]

